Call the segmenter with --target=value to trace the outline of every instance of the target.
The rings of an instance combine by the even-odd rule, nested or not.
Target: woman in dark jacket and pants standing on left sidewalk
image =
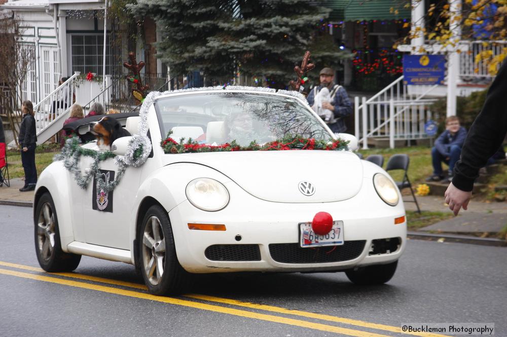
[[[19,127],[18,142],[21,147],[21,163],[25,171],[25,185],[19,191],[27,192],[35,190],[35,184],[37,184],[37,168],[35,167],[37,132],[35,131],[32,102],[23,101],[21,111],[23,119]]]

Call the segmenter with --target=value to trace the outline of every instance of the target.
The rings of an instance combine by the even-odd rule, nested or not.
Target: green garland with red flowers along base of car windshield
[[[273,150],[346,150],[348,141],[336,139],[332,141],[305,138],[300,135],[286,135],[281,139],[259,144],[253,140],[247,146],[239,145],[236,140],[221,145],[200,144],[192,138],[179,142],[171,138],[169,131],[167,138],[160,142],[165,154],[195,153],[195,152],[231,152],[231,151],[273,151]]]

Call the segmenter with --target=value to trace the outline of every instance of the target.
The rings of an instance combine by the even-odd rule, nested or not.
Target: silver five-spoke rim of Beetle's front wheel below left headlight
[[[165,239],[162,225],[156,216],[151,216],[144,226],[142,260],[148,281],[153,285],[159,284],[164,274]]]

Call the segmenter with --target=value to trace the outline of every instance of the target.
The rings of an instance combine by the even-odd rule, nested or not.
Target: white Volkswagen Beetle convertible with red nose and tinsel
[[[132,136],[111,151],[74,137],[42,172],[33,209],[44,270],[72,271],[81,255],[122,261],[153,294],[180,291],[191,273],[393,276],[407,236],[400,192],[304,96],[151,93],[138,115],[116,115]]]

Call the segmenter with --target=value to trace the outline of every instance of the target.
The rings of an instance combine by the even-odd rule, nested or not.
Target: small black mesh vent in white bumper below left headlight
[[[259,245],[212,245],[204,255],[211,261],[260,261]]]

